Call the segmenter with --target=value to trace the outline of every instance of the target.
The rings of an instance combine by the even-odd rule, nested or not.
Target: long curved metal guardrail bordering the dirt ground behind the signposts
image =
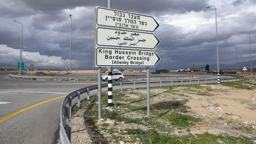
[[[244,77],[239,78],[222,78],[221,81],[241,81],[244,80]],[[160,87],[162,87],[162,83],[169,83],[170,85],[184,85],[184,84],[207,84],[217,81],[217,79],[184,79],[184,80],[174,80],[174,81],[151,81],[151,84],[159,83]],[[136,84],[146,84],[146,81],[133,81],[133,82],[120,82],[114,83],[113,85],[120,85],[120,89],[122,90],[123,85],[133,85],[133,88],[136,89]],[[107,87],[107,84],[102,84],[101,88]],[[62,102],[62,106],[60,109],[60,143],[69,144],[71,143],[71,111],[72,107],[78,104],[78,107],[81,103],[81,94],[87,92],[87,99],[89,99],[89,91],[98,89],[98,85],[92,85],[89,87],[81,88],[76,91],[68,94]],[[77,102],[72,103],[72,100],[77,97]]]

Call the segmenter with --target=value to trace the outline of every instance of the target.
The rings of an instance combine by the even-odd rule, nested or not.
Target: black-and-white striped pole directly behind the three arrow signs
[[[108,8],[111,8],[111,0],[108,0]],[[108,67],[108,104],[107,107],[113,107],[113,84],[112,67]]]

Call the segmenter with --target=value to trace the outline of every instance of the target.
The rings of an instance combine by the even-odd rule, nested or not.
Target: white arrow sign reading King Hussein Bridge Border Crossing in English
[[[96,66],[154,67],[160,57],[153,50],[112,49],[98,47]]]

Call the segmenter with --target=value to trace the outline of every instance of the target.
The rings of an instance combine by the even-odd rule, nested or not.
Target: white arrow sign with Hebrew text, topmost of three
[[[155,31],[159,26],[155,19],[148,15],[134,14],[108,8],[96,8],[96,24],[101,26],[128,28],[133,30]]]

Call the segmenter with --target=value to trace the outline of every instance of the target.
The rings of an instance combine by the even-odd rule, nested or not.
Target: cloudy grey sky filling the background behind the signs
[[[161,40],[155,49],[161,57],[156,68],[188,68],[216,64],[215,5],[219,62],[256,60],[255,0],[112,0],[112,8],[152,15],[159,23],[154,32]],[[19,61],[21,25],[24,25],[23,57],[36,68],[69,66],[69,14],[72,14],[72,67],[94,67],[94,9],[107,0],[0,0],[0,63]],[[253,63],[253,67],[256,67]]]

